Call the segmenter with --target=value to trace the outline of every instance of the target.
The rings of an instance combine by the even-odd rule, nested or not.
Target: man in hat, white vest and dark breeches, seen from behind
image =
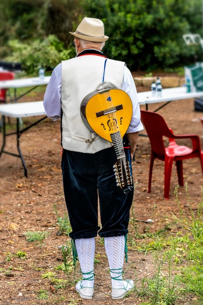
[[[133,191],[116,185],[113,165],[117,158],[112,143],[91,132],[83,123],[80,104],[95,90],[118,88],[131,98],[133,114],[127,137],[133,157],[138,132],[143,130],[133,78],[124,62],[102,53],[104,24],[85,17],[72,33],[77,56],[62,61],[53,70],[44,95],[46,114],[61,117],[62,174],[66,205],[83,280],[75,286],[80,297],[92,299],[94,251],[97,232],[104,237],[111,271],[111,297],[121,299],[133,288],[123,280],[123,261]],[[129,158],[129,162],[130,162]],[[102,229],[98,227],[98,197]]]

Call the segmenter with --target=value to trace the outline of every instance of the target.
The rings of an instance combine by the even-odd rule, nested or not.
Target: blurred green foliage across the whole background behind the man
[[[0,56],[21,61],[28,73],[36,72],[41,64],[52,70],[61,59],[75,55],[73,37],[68,32],[75,30],[84,16],[104,21],[110,37],[105,54],[125,61],[130,69],[150,72],[202,60],[201,45],[187,46],[182,37],[189,32],[202,36],[201,0],[3,2]],[[53,37],[63,50],[55,48],[50,41]]]

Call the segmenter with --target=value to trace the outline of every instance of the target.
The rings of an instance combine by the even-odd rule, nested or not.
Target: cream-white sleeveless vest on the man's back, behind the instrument
[[[91,133],[80,115],[83,98],[102,88],[105,59],[98,55],[83,55],[62,61],[62,146],[66,150],[95,153],[112,146],[111,142]],[[107,59],[105,88],[122,88],[124,65],[124,62]]]

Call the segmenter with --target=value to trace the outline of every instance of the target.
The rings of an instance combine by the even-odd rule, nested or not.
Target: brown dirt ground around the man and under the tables
[[[139,91],[149,88],[138,87]],[[29,96],[26,101],[42,100],[43,95]],[[23,101],[23,99],[21,100]],[[148,110],[155,110],[156,104]],[[141,109],[145,109],[141,106]],[[194,111],[194,100],[173,101],[159,111],[168,126],[176,134],[198,134],[203,147],[203,125],[199,118],[201,112]],[[33,118],[23,119],[23,126],[33,122]],[[10,129],[15,121],[11,120]],[[142,132],[145,134],[145,131]],[[2,133],[0,134],[2,143]],[[74,284],[65,288],[55,287],[54,282],[42,275],[55,272],[57,278],[67,280],[63,271],[55,271],[62,264],[63,256],[58,246],[66,244],[69,237],[58,234],[58,215],[64,217],[66,206],[64,201],[62,176],[60,169],[60,122],[45,119],[35,127],[23,133],[20,137],[20,147],[27,168],[28,177],[24,176],[21,160],[3,153],[0,157],[0,304],[2,305],[139,305],[141,298],[136,291],[129,297],[112,301],[111,281],[104,245],[96,239],[97,264],[95,264],[95,292],[92,300],[82,300],[75,292]],[[7,138],[6,149],[16,152],[16,137]],[[136,188],[129,223],[129,236],[135,244],[140,243],[139,234],[146,230],[156,232],[166,228],[172,221],[172,215],[179,215],[180,207],[174,195],[178,185],[175,165],[173,165],[170,198],[164,199],[164,162],[155,160],[151,193],[148,193],[148,170],[150,160],[150,144],[148,137],[140,136],[135,161],[133,161],[133,176]],[[184,179],[187,182],[192,209],[196,209],[201,200],[203,174],[200,160],[184,161]],[[189,214],[185,187],[178,191],[179,203]],[[55,208],[54,208],[55,207]],[[145,223],[148,219],[154,222]],[[133,221],[135,220],[135,221]],[[136,224],[136,228],[135,228]],[[178,228],[171,229],[171,234]],[[26,241],[27,231],[47,231],[49,235],[40,246],[37,242]],[[20,258],[21,252],[26,253],[26,259]],[[22,254],[21,254],[22,255]],[[129,247],[128,263],[125,263],[125,277],[132,278],[135,286],[140,286],[146,276],[155,272],[150,253],[144,255]],[[79,266],[76,267],[76,279],[80,277]],[[48,298],[39,298],[40,292],[47,291]],[[182,304],[186,303],[185,300]]]

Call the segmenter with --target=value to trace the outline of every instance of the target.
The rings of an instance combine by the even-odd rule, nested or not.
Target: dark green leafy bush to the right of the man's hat
[[[200,0],[85,0],[84,6],[105,23],[107,56],[133,69],[163,69],[196,59],[197,50],[187,47],[182,35],[190,31],[187,17],[195,15]],[[199,22],[195,28],[193,19],[194,30]]]

